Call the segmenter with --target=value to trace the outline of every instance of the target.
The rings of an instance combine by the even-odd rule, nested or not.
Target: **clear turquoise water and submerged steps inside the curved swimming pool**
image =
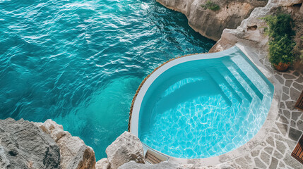
[[[174,65],[153,81],[139,114],[144,144],[177,158],[207,158],[237,149],[259,132],[273,84],[237,47],[228,52]]]

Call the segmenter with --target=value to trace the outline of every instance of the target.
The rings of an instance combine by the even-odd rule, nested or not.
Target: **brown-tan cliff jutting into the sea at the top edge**
[[[174,11],[184,13],[189,25],[204,37],[218,41],[225,28],[234,29],[251,11],[259,6],[265,6],[268,0],[212,0],[220,9],[212,11],[201,5],[208,0],[157,0],[160,4]]]

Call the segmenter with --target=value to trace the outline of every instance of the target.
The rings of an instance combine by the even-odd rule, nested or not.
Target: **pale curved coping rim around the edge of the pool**
[[[242,51],[247,58],[249,58],[249,60],[254,63],[254,65],[256,66],[256,68],[258,68],[261,73],[263,73],[263,75],[273,84],[274,86],[274,93],[273,93],[273,100],[271,102],[271,108],[268,111],[268,115],[266,117],[266,120],[264,122],[264,124],[262,125],[261,129],[259,130],[259,132],[252,138],[250,139],[248,142],[246,142],[246,144],[239,146],[237,149],[234,149],[230,152],[227,152],[226,154],[222,154],[220,156],[213,156],[213,157],[208,157],[208,158],[176,158],[176,157],[172,157],[169,156],[169,160],[168,161],[172,161],[174,163],[180,163],[180,164],[193,164],[193,165],[217,165],[219,163],[224,163],[227,161],[231,161],[234,158],[237,158],[239,156],[243,156],[244,154],[248,154],[250,151],[252,151],[256,146],[258,146],[259,144],[261,144],[261,142],[263,142],[263,139],[266,138],[266,135],[269,133],[269,131],[272,129],[273,124],[275,122],[275,117],[278,114],[279,111],[279,104],[280,104],[280,98],[282,95],[282,85],[280,84],[280,82],[278,82],[278,80],[275,78],[275,76],[273,75],[273,73],[269,72],[265,66],[258,60],[258,58],[256,56],[254,56],[255,54],[252,54],[249,49],[246,49],[246,47],[240,43],[235,45],[238,49],[240,49],[240,51]],[[131,132],[132,134],[135,134],[136,136],[138,136],[138,116],[139,113],[135,113],[133,115],[133,111],[134,112],[139,112],[140,111],[140,106],[141,106],[141,102],[143,100],[143,96],[145,94],[145,92],[147,92],[148,87],[150,86],[150,84],[165,70],[167,70],[168,68],[171,68],[174,65],[177,65],[179,63],[183,63],[186,61],[194,61],[194,60],[201,60],[201,59],[207,59],[207,58],[220,58],[223,56],[226,56],[227,54],[229,54],[230,52],[234,51],[234,46],[232,46],[230,49],[227,49],[225,51],[219,51],[218,53],[212,53],[212,54],[189,54],[186,56],[180,56],[177,58],[172,58],[169,61],[162,63],[162,65],[160,65],[158,68],[155,68],[155,70],[153,70],[152,73],[150,73],[150,75],[148,75],[147,77],[145,77],[145,79],[141,82],[140,86],[138,87],[135,96],[133,97],[133,101],[131,104],[131,110],[129,113],[129,132]],[[220,56],[214,56],[214,55],[218,55],[219,53],[221,53],[222,55]],[[203,58],[201,58],[203,57]],[[164,66],[165,65],[165,66]],[[157,71],[158,70],[158,71]],[[155,74],[154,74],[155,73]],[[152,78],[149,78],[151,75],[153,75]],[[143,91],[143,92],[141,92]],[[139,99],[136,102],[136,99]],[[136,103],[139,103],[139,105],[137,105]],[[133,130],[131,130],[133,129]],[[149,147],[147,147],[148,149],[150,149]],[[151,149],[152,151],[155,151],[159,154],[159,151],[156,151],[155,149]],[[162,154],[165,156],[168,156],[167,154]]]

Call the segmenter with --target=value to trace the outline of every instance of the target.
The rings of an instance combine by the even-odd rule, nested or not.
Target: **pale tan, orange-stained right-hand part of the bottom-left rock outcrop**
[[[73,137],[69,132],[63,130],[53,120],[46,120],[44,123],[35,123],[43,132],[49,134],[57,142],[60,148],[62,169],[92,169],[95,168],[95,152],[90,146],[86,146],[82,139]]]

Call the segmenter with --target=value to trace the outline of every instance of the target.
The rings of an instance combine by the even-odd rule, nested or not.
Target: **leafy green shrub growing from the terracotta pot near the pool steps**
[[[272,64],[292,63],[295,61],[293,49],[295,41],[292,36],[295,32],[292,30],[293,20],[290,15],[278,13],[277,15],[268,15],[265,18],[268,24],[266,33],[269,40],[269,61]]]

